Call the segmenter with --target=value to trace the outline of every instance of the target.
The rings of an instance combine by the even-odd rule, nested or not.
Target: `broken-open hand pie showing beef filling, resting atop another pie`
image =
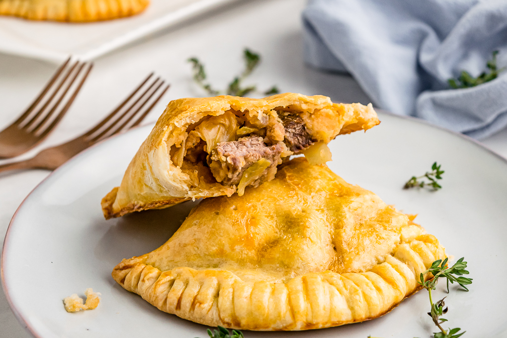
[[[339,134],[379,124],[371,104],[337,104],[325,96],[279,94],[169,102],[130,162],[121,185],[102,200],[105,218],[168,207],[193,198],[243,194],[273,179],[282,159],[304,153],[331,160]]]

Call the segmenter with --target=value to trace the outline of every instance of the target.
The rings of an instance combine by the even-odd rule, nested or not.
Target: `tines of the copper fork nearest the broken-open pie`
[[[153,75],[151,73],[110,115],[84,135],[88,141],[95,143],[141,123],[169,89],[160,77],[153,80]]]

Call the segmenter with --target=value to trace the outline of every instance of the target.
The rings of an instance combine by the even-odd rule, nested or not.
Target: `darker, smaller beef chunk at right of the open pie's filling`
[[[284,142],[291,152],[299,153],[317,141],[306,130],[303,119],[293,112],[280,111],[278,117],[285,128]]]

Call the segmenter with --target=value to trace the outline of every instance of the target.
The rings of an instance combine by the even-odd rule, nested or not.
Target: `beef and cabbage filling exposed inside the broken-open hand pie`
[[[205,174],[210,181],[236,185],[241,196],[246,186],[273,179],[282,155],[308,152],[317,142],[296,112],[281,110],[277,115],[281,124],[276,115],[271,115],[269,121],[251,122],[231,111],[205,119],[171,149],[171,160],[178,167],[184,160],[190,162],[194,175],[202,171],[198,168],[208,167]]]

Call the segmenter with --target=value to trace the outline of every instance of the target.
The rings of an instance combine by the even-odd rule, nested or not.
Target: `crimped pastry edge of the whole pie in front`
[[[323,271],[285,283],[244,282],[226,270],[178,267],[162,272],[144,264],[145,256],[123,259],[112,276],[126,290],[141,295],[161,311],[209,326],[306,330],[371,320],[388,313],[421,289],[417,284],[420,273],[446,254],[434,236],[420,235],[409,243],[398,244],[384,262],[367,272]],[[429,279],[429,274],[425,278]],[[363,280],[360,286],[357,279]],[[270,293],[262,305],[256,299],[266,287]],[[342,294],[339,289],[353,292]],[[270,302],[273,296],[277,298]],[[375,304],[375,297],[382,304]]]

